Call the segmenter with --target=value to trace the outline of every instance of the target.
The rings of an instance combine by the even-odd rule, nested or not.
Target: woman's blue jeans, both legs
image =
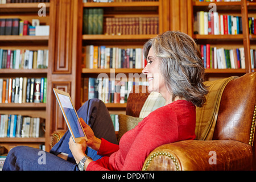
[[[109,142],[117,144],[112,119],[105,104],[98,99],[92,99],[85,102],[77,111],[77,115],[92,128],[97,138],[104,138]],[[9,151],[5,160],[3,171],[24,170],[24,171],[73,171],[79,170],[68,142],[70,133],[64,134],[58,143],[53,146],[50,152],[44,152],[38,148],[18,146]],[[61,152],[68,154],[68,160],[59,158],[57,155]],[[86,155],[93,160],[102,158],[97,155],[97,151],[87,147]]]

